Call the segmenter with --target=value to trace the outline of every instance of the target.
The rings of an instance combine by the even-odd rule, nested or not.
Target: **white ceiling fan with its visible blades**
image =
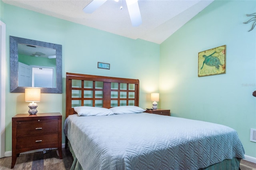
[[[90,4],[88,4],[86,7],[84,7],[83,11],[85,13],[91,14],[97,8],[99,8],[102,4],[104,4],[106,1],[107,0],[92,0],[92,2],[90,2]],[[118,0],[115,0],[115,1],[118,2]],[[124,0],[124,1],[126,1],[126,5],[128,8],[132,26],[136,27],[136,26],[139,26],[140,24],[142,24],[138,0]],[[122,6],[120,9],[122,9]]]

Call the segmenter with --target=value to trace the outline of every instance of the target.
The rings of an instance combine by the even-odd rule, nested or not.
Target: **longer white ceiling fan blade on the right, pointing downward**
[[[126,0],[126,4],[132,22],[132,26],[136,27],[142,24],[138,0]]]

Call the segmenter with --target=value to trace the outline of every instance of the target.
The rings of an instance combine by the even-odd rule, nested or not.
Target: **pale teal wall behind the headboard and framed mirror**
[[[60,112],[64,121],[66,72],[139,79],[140,107],[151,105],[150,93],[158,92],[154,77],[159,75],[159,44],[117,36],[2,1],[0,10],[0,19],[6,24],[6,151],[12,149],[12,117],[28,111],[24,93],[10,93],[9,36],[62,45],[64,93],[41,94],[39,113]],[[110,70],[98,69],[98,61],[110,63]]]

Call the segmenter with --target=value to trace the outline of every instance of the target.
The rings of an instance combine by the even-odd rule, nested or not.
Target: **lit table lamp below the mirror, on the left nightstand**
[[[28,113],[30,115],[36,115],[37,113],[37,104],[34,102],[40,102],[40,93],[41,89],[31,88],[31,89],[25,89],[25,101],[26,102],[32,102],[28,104],[29,110]]]

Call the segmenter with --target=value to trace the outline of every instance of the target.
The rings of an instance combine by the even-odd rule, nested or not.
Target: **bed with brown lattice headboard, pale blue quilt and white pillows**
[[[244,148],[234,129],[138,106],[138,79],[66,73],[71,169],[240,169]]]

